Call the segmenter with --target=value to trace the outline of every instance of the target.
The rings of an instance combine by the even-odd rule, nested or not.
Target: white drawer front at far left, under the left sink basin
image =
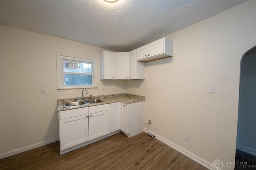
[[[67,119],[70,117],[76,117],[81,115],[88,114],[88,107],[78,108],[78,109],[71,109],[67,111],[59,111],[59,119]]]

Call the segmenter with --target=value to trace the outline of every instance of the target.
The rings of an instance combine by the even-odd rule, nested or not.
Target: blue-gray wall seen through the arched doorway
[[[241,64],[236,148],[256,155],[256,47]]]

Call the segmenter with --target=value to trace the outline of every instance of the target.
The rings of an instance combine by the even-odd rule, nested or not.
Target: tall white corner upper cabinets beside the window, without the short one
[[[136,59],[136,49],[131,52],[100,53],[101,80],[145,79],[145,63]]]

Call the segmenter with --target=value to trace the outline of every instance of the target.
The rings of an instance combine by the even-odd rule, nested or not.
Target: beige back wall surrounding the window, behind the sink
[[[57,99],[82,90],[57,91],[56,51],[98,58],[104,49],[1,25],[0,153],[58,138]],[[102,86],[105,91],[102,91]],[[125,93],[125,81],[100,81],[88,95]],[[47,95],[40,95],[46,88]]]

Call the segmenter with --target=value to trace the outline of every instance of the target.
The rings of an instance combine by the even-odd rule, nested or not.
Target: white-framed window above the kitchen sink
[[[58,89],[97,87],[96,58],[56,53]]]

